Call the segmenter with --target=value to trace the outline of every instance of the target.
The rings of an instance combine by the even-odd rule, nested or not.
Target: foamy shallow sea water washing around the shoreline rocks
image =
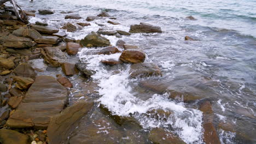
[[[159,65],[162,77],[149,80],[165,82],[173,89],[190,92],[211,100],[214,123],[233,123],[237,133],[218,129],[223,143],[256,143],[256,1],[18,1],[26,10],[54,9],[53,15],[39,15],[30,21],[45,21],[60,27],[67,21],[82,22],[87,16],[97,15],[101,10],[117,17],[122,25],[109,25],[107,20],[96,20],[106,25],[105,29],[129,31],[130,25],[147,22],[162,28],[160,34],[132,34],[123,37],[126,43],[135,44],[147,53],[147,62]],[[84,17],[81,20],[65,20],[61,11],[73,11]],[[193,15],[197,20],[184,17]],[[82,39],[100,26],[90,22],[69,37]],[[189,35],[197,41],[184,41]],[[118,38],[107,36],[112,45]],[[95,100],[106,105],[117,115],[132,113],[144,129],[154,127],[173,128],[187,143],[202,142],[202,112],[195,105],[170,100],[166,95],[155,94],[139,87],[142,79],[129,78],[129,64],[120,67],[106,67],[102,59],[118,59],[111,56],[86,55],[94,49],[82,49],[78,56],[97,71],[92,78],[97,81]],[[114,73],[119,69],[119,73]],[[44,73],[48,74],[48,73]],[[55,74],[53,74],[55,75]],[[81,92],[84,82],[72,77],[78,83],[71,95]],[[85,82],[86,83],[86,82]],[[88,95],[93,97],[93,95]],[[162,119],[143,115],[149,110],[173,111],[172,117]],[[174,119],[174,120],[173,120]],[[193,136],[191,134],[193,133]]]

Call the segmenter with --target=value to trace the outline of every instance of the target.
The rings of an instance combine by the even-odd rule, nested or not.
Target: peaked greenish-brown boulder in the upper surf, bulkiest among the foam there
[[[92,47],[103,47],[109,46],[110,42],[107,38],[102,37],[101,35],[91,32],[90,34],[86,35],[84,39],[80,41],[80,45],[88,46],[90,44]]]

